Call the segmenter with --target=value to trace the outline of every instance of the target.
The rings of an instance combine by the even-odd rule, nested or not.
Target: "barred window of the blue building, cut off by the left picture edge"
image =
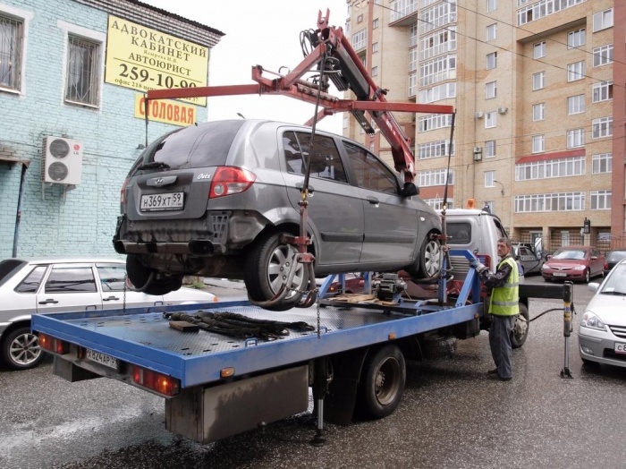
[[[21,90],[22,20],[0,14],[0,88]]]

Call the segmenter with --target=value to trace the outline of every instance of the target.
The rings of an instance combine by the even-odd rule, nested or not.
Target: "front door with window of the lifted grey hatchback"
[[[419,232],[419,211],[400,195],[398,178],[382,161],[357,145],[343,142],[359,184],[365,214],[361,263],[411,262]]]

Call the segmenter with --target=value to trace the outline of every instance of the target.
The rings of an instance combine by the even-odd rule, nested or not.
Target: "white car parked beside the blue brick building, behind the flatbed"
[[[213,303],[215,294],[181,288],[151,295],[124,288],[125,263],[116,259],[7,259],[0,261],[0,362],[26,370],[43,359],[30,316],[166,304]]]

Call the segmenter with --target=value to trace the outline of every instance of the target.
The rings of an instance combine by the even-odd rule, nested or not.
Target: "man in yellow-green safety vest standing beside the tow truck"
[[[487,371],[489,375],[508,381],[513,377],[511,355],[511,331],[515,316],[520,314],[520,272],[513,259],[511,240],[500,238],[497,243],[500,262],[494,274],[478,259],[470,265],[478,271],[478,277],[491,291],[489,314],[489,345],[494,358],[495,369]]]

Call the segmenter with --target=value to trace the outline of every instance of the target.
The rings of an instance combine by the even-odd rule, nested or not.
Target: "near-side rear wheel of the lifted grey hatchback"
[[[289,276],[292,262],[298,253],[292,244],[282,242],[287,233],[273,233],[263,236],[254,244],[246,261],[244,283],[250,300],[267,302],[281,290]],[[284,311],[295,306],[302,297],[302,289],[307,286],[309,272],[304,264],[295,266],[290,291],[283,302],[266,309]]]

